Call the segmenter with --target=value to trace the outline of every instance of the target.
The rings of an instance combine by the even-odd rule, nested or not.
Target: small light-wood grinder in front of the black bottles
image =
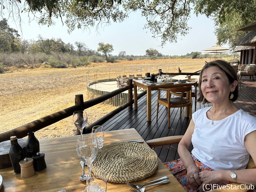
[[[20,161],[21,167],[21,178],[31,177],[35,174],[35,170],[33,167],[33,158],[25,158]]]

